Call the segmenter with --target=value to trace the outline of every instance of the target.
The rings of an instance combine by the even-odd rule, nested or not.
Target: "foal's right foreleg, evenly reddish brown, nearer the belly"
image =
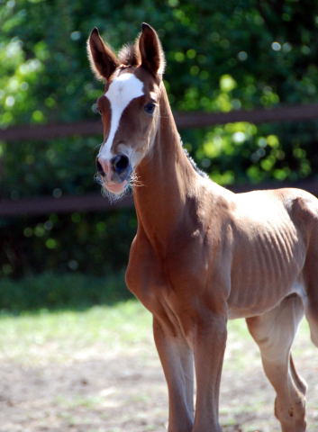
[[[196,403],[193,432],[221,432],[219,392],[226,345],[226,319],[208,312],[194,335]]]

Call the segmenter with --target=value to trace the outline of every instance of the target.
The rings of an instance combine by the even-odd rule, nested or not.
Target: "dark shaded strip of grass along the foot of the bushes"
[[[0,281],[0,311],[83,309],[131,297],[124,284],[123,270],[104,276],[44,273]]]

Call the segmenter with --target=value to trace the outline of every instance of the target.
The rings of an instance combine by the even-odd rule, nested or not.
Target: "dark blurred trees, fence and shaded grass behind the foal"
[[[94,181],[103,85],[86,39],[97,26],[120,49],[143,21],[166,52],[177,119],[196,119],[180,123],[185,147],[212,179],[233,190],[316,191],[317,2],[0,0],[1,310],[129,295],[123,270],[136,220],[129,199],[110,207]],[[202,112],[241,121],[212,116],[199,128]]]

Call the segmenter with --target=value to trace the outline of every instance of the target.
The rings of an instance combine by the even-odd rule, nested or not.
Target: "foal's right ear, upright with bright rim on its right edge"
[[[142,23],[139,49],[141,51],[141,66],[146,67],[154,75],[162,75],[165,70],[165,56],[158,34],[146,23]]]

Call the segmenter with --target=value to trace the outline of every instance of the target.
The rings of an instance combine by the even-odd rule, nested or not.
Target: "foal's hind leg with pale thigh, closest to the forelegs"
[[[259,345],[265,374],[277,393],[275,415],[282,432],[304,432],[306,428],[306,386],[290,354],[303,315],[302,300],[292,295],[275,310],[247,320],[250,334]]]

